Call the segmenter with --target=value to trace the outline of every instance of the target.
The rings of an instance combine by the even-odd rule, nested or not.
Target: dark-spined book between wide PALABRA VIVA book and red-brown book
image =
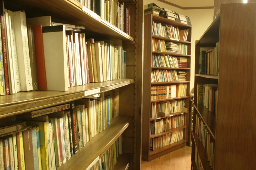
[[[31,66],[31,77],[33,91],[39,90],[38,75],[37,75],[37,62],[36,62],[36,48],[35,48],[35,36],[34,36],[34,26],[27,25],[28,34],[28,49],[29,49],[29,59]]]

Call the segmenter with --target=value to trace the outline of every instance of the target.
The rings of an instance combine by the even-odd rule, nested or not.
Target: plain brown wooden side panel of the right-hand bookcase
[[[221,6],[214,169],[255,169],[255,9],[256,3]]]

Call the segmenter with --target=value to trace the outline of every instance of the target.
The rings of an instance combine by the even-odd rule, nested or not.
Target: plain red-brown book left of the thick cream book
[[[35,46],[36,46],[36,65],[39,90],[47,90],[46,71],[43,52],[43,33],[42,25],[34,26]]]

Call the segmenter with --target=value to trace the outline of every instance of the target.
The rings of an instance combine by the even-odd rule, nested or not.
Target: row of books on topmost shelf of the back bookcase
[[[187,41],[188,29],[179,30],[179,28],[175,28],[172,25],[162,25],[161,23],[154,23],[154,21],[152,21],[152,34],[175,40]]]

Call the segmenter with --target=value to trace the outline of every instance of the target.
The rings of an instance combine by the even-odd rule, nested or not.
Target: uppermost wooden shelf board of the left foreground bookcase
[[[12,4],[13,5],[12,7]],[[68,24],[85,26],[85,30],[104,38],[134,41],[134,38],[102,19],[76,0],[10,0],[5,2],[9,10],[25,10],[26,17],[34,17],[34,11],[42,11],[53,18],[63,19]],[[54,22],[54,20],[52,20]],[[59,21],[58,21],[59,22]]]

